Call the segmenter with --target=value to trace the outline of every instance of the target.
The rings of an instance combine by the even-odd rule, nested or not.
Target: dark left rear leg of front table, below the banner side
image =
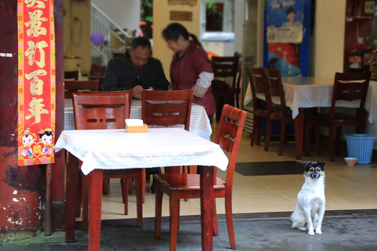
[[[67,152],[68,153],[68,152]],[[79,161],[68,153],[66,163],[66,242],[75,241]]]

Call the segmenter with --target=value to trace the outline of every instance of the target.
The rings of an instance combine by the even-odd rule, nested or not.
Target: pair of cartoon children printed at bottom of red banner
[[[32,161],[31,159],[38,158],[39,161],[34,161],[34,164],[49,163],[50,161],[45,158],[51,157],[54,151],[52,147],[52,135],[54,135],[54,131],[51,128],[40,129],[38,134],[31,132],[30,128],[24,130],[19,137],[19,141],[22,143],[19,152],[24,158],[22,162],[29,163]],[[39,142],[37,142],[37,139]]]

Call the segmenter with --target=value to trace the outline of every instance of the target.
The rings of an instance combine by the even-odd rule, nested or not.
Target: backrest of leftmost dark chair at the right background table
[[[256,97],[257,94],[266,95],[269,93],[267,89],[267,79],[265,69],[262,67],[246,66],[247,73],[249,74],[251,95],[253,96],[253,108],[262,109],[260,100]]]

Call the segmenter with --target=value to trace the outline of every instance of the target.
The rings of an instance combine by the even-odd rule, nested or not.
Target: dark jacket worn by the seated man
[[[148,63],[141,69],[135,68],[128,53],[111,59],[106,68],[103,91],[130,90],[137,85],[142,89],[153,87],[155,90],[168,90],[168,79],[158,59],[149,58]]]

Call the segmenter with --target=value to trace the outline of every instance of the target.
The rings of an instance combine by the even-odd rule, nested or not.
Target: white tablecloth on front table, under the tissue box
[[[228,158],[218,144],[182,128],[149,128],[148,132],[64,130],[55,151],[66,149],[82,160],[82,172],[93,169],[216,166],[226,170]]]

